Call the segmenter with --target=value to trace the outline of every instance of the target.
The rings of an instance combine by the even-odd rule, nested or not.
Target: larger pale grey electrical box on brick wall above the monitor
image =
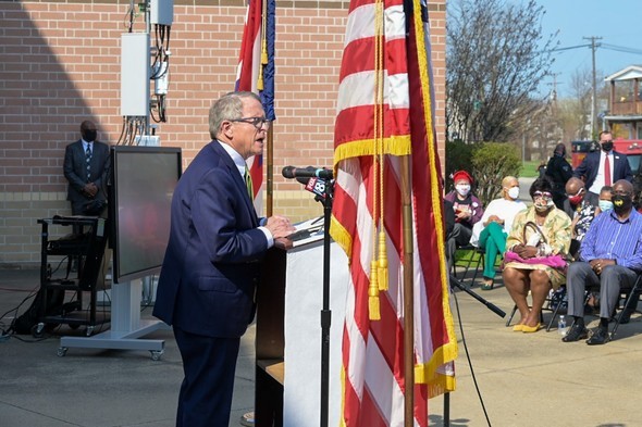
[[[121,35],[121,115],[149,111],[149,34]]]

